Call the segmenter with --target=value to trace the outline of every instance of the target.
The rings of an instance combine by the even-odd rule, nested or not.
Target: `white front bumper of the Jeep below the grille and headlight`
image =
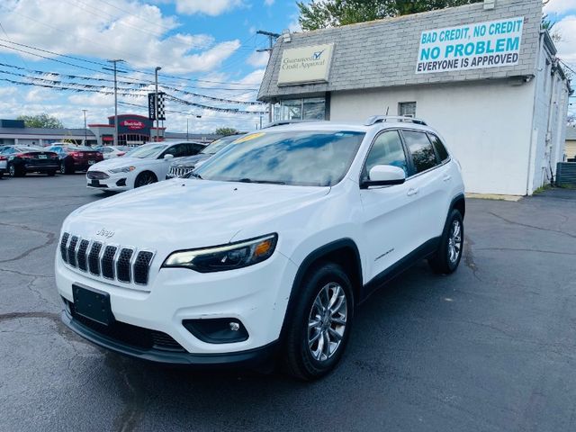
[[[128,327],[129,332],[162,333],[182,352],[158,353],[150,345],[110,338],[105,330],[85,325],[82,317],[73,318],[74,308],[68,307],[67,317],[63,317],[66,323],[70,321],[68,327],[95,344],[157,362],[219,365],[241,363],[253,354],[259,357],[262,353],[252,351],[264,349],[279,338],[296,270],[292,261],[276,251],[262,263],[228,272],[200,274],[184,268],[162,268],[150,275],[149,285],[136,286],[79,272],[57,256],[56,283],[58,293],[72,306],[73,284],[108,293],[114,322]],[[210,343],[193,336],[183,324],[184,320],[215,319],[240,321],[248,338]]]

